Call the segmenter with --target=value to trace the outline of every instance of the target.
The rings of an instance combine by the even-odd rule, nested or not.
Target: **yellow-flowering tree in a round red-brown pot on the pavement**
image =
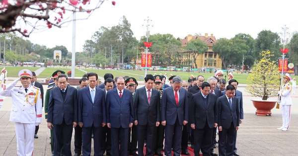
[[[257,108],[256,114],[260,116],[271,115],[277,100],[268,100],[277,96],[280,84],[280,73],[275,61],[270,59],[273,54],[266,50],[260,53],[261,60],[252,67],[247,77],[246,91],[253,97],[260,97],[262,100],[251,100]]]

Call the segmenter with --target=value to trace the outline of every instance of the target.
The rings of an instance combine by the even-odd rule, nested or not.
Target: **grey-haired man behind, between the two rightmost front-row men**
[[[222,79],[224,80],[224,79]],[[216,77],[210,77],[207,79],[207,82],[210,84],[210,93],[216,95],[216,101],[219,97],[222,96],[222,92],[219,89],[216,89],[216,85],[218,84],[218,80]],[[218,156],[216,153],[214,153],[214,149],[216,148],[216,130],[217,127],[213,128],[213,146],[211,147],[211,156]]]

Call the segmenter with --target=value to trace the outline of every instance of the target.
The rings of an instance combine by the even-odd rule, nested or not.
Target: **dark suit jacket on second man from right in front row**
[[[214,94],[210,93],[208,95],[207,107],[205,106],[202,93],[194,94],[190,107],[191,124],[195,124],[196,128],[203,129],[207,121],[209,128],[213,128],[214,123],[218,123],[218,107],[216,103],[216,95]]]

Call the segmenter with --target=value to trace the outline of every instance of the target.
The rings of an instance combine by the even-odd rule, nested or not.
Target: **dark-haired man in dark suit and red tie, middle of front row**
[[[148,74],[145,77],[145,86],[138,89],[134,102],[135,125],[138,125],[138,151],[144,156],[144,142],[147,137],[146,156],[154,152],[156,127],[160,124],[160,97],[159,92],[153,89],[155,78]]]

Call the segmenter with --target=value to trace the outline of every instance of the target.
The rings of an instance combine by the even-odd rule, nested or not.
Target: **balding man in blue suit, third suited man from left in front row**
[[[124,89],[125,80],[122,76],[117,78],[116,86],[107,93],[107,126],[111,128],[112,156],[127,156],[128,128],[134,122],[133,95]]]

